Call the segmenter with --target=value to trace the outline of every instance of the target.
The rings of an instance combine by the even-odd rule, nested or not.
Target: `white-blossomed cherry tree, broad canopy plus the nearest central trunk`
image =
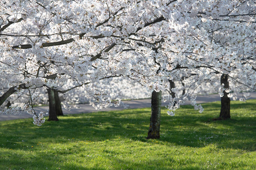
[[[148,138],[160,137],[164,82],[180,79],[179,73],[195,76],[184,82],[189,84],[184,95],[170,97],[173,110],[191,100],[203,111],[196,105],[196,84],[212,78],[213,71],[255,90],[254,1],[1,1],[0,6],[1,63],[19,75],[15,86],[21,81],[27,88],[63,93],[84,88],[101,108],[118,99],[106,93],[108,79],[129,78],[153,96]],[[237,76],[241,73],[249,76]],[[53,74],[55,79],[46,78]]]

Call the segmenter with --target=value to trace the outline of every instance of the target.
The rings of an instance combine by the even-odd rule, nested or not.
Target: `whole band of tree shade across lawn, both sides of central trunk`
[[[207,105],[220,106],[217,103]],[[207,105],[204,107],[206,108]],[[236,108],[242,107],[245,106],[236,105]],[[252,109],[252,107],[247,109]],[[256,150],[255,141],[253,140],[256,136],[256,118],[239,117],[225,121],[212,121],[212,118],[211,114],[195,116],[192,113],[176,115],[175,117],[164,114],[159,141],[187,147],[205,147],[214,143],[219,148]],[[26,140],[27,145],[33,145],[35,141],[49,142],[56,139],[64,143],[70,142],[69,139],[72,138],[79,141],[97,142],[121,137],[133,141],[148,142],[146,137],[149,123],[149,108],[128,109],[127,112],[98,112],[63,116],[60,117],[58,122],[46,122],[36,128],[29,119],[14,125],[6,125],[8,127],[0,125],[0,129],[2,129],[0,132],[11,138],[12,131],[15,130],[16,133],[19,133],[20,141]],[[217,128],[218,126],[221,128]],[[0,147],[11,146],[11,148],[18,149],[18,146],[9,145],[10,143],[16,143],[15,139],[9,139],[8,143]]]

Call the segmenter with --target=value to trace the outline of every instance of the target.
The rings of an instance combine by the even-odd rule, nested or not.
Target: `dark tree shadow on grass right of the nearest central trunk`
[[[189,116],[186,118],[189,119]],[[256,151],[255,118],[243,117],[239,120],[234,118],[222,121],[209,119],[210,117],[203,117],[201,121],[186,122],[183,125],[187,128],[183,128],[182,125],[181,130],[170,128],[162,134],[161,141],[189,147],[215,144],[218,148]]]

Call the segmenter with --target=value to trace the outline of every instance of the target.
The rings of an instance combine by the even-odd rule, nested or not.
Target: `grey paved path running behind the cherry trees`
[[[242,95],[241,95],[242,96]],[[256,92],[252,92],[249,99],[256,99]],[[208,96],[197,96],[196,103],[208,103],[212,101],[220,101],[220,95],[214,94],[214,95],[208,95]],[[123,101],[123,103],[129,105],[129,109],[136,109],[136,108],[150,108],[151,107],[151,99],[141,99],[141,100],[127,100]],[[168,102],[162,103],[162,105],[167,105]],[[189,101],[187,101],[185,104],[190,104]],[[35,111],[36,113],[39,112],[45,112],[49,109],[49,107],[36,107]],[[65,110],[63,109],[64,114],[77,114],[77,113],[92,113],[92,112],[99,112],[99,111],[120,111],[123,107],[110,107],[110,108],[104,108],[101,110],[94,109],[89,104],[79,104],[79,108],[72,108],[71,110]],[[27,113],[20,113],[18,115],[13,114],[0,114],[0,121],[6,121],[6,120],[14,120],[19,118],[31,118],[32,116]]]

